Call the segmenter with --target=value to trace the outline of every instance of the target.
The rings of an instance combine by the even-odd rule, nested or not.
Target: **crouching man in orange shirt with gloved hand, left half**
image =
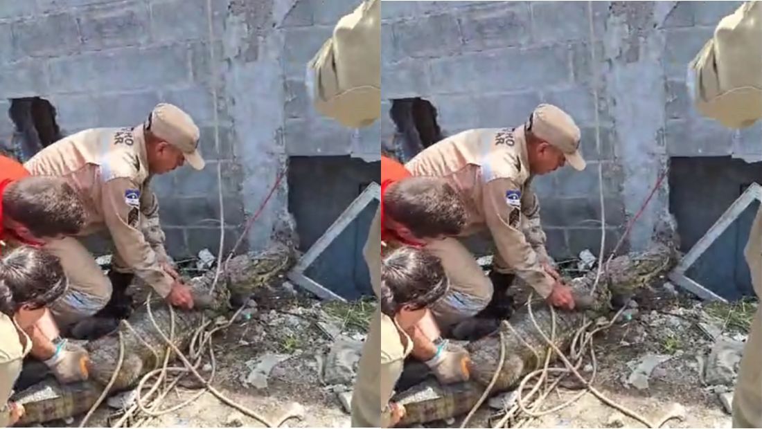
[[[8,253],[20,245],[39,247],[46,242],[62,240],[63,237],[77,234],[85,224],[84,205],[66,180],[30,176],[24,166],[8,157],[0,157],[0,196],[0,254]],[[21,254],[27,256],[10,258],[8,261],[47,260],[46,256],[34,256],[37,253],[28,249]],[[50,270],[55,272],[58,264],[56,259],[55,266]],[[27,265],[19,269],[25,266]],[[13,274],[14,267],[17,265],[7,265],[8,270],[11,270],[9,275]],[[0,281],[5,280],[0,278]],[[53,286],[52,280],[50,286]],[[24,296],[24,291],[19,293]],[[34,312],[39,316],[34,319],[34,323],[30,322],[30,317],[25,318],[27,323],[24,323],[24,334],[30,340],[27,344],[30,354],[45,362],[61,383],[85,380],[88,374],[79,370],[78,362],[87,357],[87,352],[68,344],[66,339],[60,337],[58,326],[53,321],[50,310],[45,307],[52,302],[43,303],[43,307]],[[0,338],[3,338],[0,343],[5,343],[5,335]]]

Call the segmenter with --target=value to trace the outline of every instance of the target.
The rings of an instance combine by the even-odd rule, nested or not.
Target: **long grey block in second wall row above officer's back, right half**
[[[479,52],[431,62],[431,87],[441,92],[541,89],[570,78],[566,46]]]

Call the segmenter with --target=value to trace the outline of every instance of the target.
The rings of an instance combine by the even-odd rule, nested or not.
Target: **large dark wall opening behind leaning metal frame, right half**
[[[762,163],[731,157],[671,158],[669,205],[680,251],[689,251],[754,182],[762,185]],[[688,277],[728,300],[753,295],[744,247],[758,209],[758,202],[749,205],[693,263]]]

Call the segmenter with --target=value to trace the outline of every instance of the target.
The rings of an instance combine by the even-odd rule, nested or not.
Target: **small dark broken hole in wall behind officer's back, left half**
[[[13,145],[21,160],[28,160],[62,137],[56,108],[44,98],[13,98],[8,114],[16,126]]]

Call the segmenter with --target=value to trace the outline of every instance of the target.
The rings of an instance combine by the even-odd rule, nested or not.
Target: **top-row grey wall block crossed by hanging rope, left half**
[[[213,2],[215,38],[224,30],[226,11]],[[215,10],[216,9],[216,10]],[[151,31],[155,40],[178,41],[209,39],[206,0],[153,0],[151,2]]]

